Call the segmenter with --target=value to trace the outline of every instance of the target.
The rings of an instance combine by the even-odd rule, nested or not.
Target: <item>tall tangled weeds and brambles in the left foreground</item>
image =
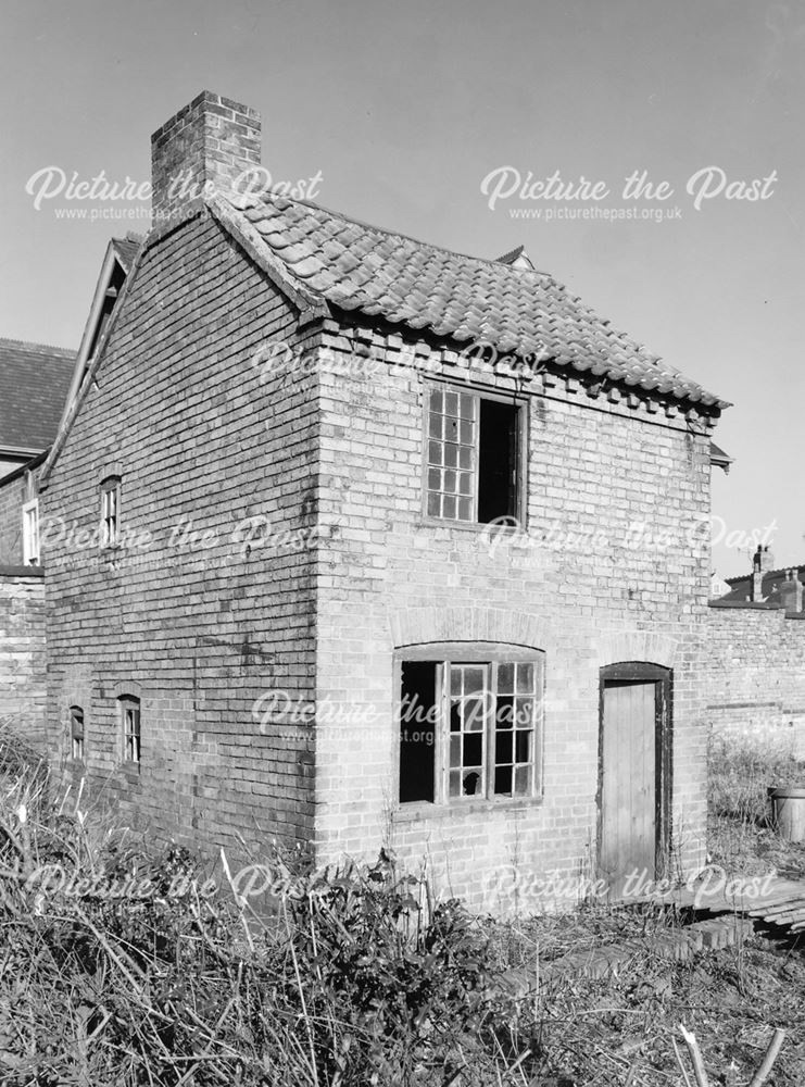
[[[389,855],[325,873],[274,857],[269,916],[226,859],[207,894],[187,849],[150,853],[50,802],[26,759],[4,766],[5,1087],[445,1087],[514,1063],[482,926]]]

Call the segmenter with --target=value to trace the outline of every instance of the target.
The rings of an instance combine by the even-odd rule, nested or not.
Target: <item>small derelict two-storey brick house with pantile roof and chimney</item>
[[[696,864],[725,403],[523,252],[243,196],[246,107],[152,158],[41,476],[53,760],[155,834],[390,845],[489,909]]]

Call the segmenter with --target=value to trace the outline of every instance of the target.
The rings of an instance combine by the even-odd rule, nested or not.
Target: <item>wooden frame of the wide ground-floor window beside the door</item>
[[[436,670],[436,704],[437,721],[435,726],[435,767],[433,767],[433,800],[400,800],[400,727],[402,714],[402,666],[407,662],[428,661],[437,665]],[[534,665],[533,704],[534,721],[531,739],[530,788],[524,794],[495,794],[495,717],[487,715],[483,725],[482,740],[482,775],[481,792],[471,795],[450,796],[450,722],[445,710],[450,692],[444,689],[444,665],[483,664],[490,670],[490,691],[498,699],[498,670],[501,664],[530,663]],[[543,795],[543,748],[544,748],[544,691],[545,691],[545,653],[544,650],[526,646],[507,646],[499,642],[433,642],[424,646],[400,648],[394,652],[394,782],[397,789],[397,807],[400,811],[415,810],[461,810],[473,803],[504,804],[529,803],[541,800]],[[506,764],[507,765],[507,764]],[[513,763],[515,765],[515,763]]]

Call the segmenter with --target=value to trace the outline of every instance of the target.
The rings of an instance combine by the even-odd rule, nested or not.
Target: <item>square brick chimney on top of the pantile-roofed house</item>
[[[261,121],[248,105],[202,90],[151,137],[153,222],[178,222],[187,204],[260,165]]]

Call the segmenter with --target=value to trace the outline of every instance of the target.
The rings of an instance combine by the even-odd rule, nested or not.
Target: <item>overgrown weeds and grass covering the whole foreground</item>
[[[719,773],[717,817],[750,825],[768,769],[752,789]],[[768,1083],[805,1083],[796,946],[756,936],[675,962],[663,937],[683,919],[667,908],[495,922],[435,901],[386,853],[326,873],[275,853],[269,869],[271,892],[250,897],[256,870],[152,853],[52,803],[30,753],[0,737],[0,1083],[671,1087],[679,1024],[710,1082],[739,1087],[783,1027]],[[615,976],[558,965],[606,945],[630,949]],[[539,995],[512,970],[541,972]]]

